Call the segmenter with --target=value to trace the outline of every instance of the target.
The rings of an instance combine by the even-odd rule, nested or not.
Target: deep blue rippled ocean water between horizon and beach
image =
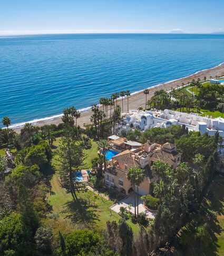
[[[0,36],[0,119],[52,117],[223,62],[224,35]]]

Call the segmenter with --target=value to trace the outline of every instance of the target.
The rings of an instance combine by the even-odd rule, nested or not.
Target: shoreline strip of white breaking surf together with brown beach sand
[[[150,99],[154,92],[157,90],[164,89],[165,91],[171,90],[172,88],[176,88],[177,85],[181,86],[182,83],[186,85],[188,82],[191,82],[192,79],[197,80],[200,78],[203,80],[204,77],[207,77],[207,79],[215,76],[224,75],[224,63],[220,63],[218,66],[210,68],[210,69],[204,69],[202,71],[197,71],[194,74],[188,75],[187,77],[183,77],[180,79],[174,79],[168,82],[164,82],[161,84],[156,84],[155,86],[149,87],[149,94],[147,96],[147,100]],[[122,90],[122,89],[121,89]],[[144,89],[143,89],[144,90]],[[129,97],[129,110],[131,109],[138,109],[139,107],[145,106],[145,95],[143,94],[143,90],[135,91],[131,93],[131,96]],[[99,101],[99,99],[98,99]],[[122,107],[122,98],[118,98],[118,105]],[[99,105],[100,108],[101,105]],[[123,112],[127,111],[127,97],[123,98]],[[90,116],[92,115],[91,107],[86,107],[83,109],[79,109],[81,112],[81,117],[77,119],[77,125],[80,125],[81,127],[84,127],[84,124],[90,124]],[[51,125],[55,124],[58,125],[62,122],[61,117],[63,116],[63,113],[59,115],[55,115],[52,117],[45,117],[40,119],[34,119],[30,122],[34,126],[43,126],[43,125]],[[9,126],[9,128],[13,129],[15,132],[20,133],[21,129],[27,122],[21,122],[20,124],[14,124]]]

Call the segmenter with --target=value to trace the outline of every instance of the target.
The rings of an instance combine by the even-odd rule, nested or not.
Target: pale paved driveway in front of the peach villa
[[[125,207],[129,211],[129,205],[130,204],[132,205],[131,208],[130,208],[130,211],[132,213],[134,213],[134,195],[131,195],[131,196],[125,198],[124,200],[122,200],[119,203],[111,206],[110,208],[114,212],[119,213],[121,206]],[[137,196],[136,196],[136,212],[137,212]],[[156,213],[155,211],[146,210],[145,207],[143,206],[143,200],[141,200],[141,197],[139,196],[139,213],[140,212],[145,212],[149,219],[154,219],[155,213]]]

